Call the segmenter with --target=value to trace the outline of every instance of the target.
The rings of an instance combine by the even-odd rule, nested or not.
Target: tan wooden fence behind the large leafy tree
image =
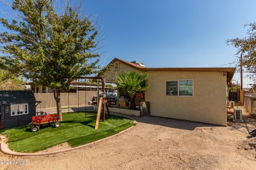
[[[63,92],[60,95],[60,103],[61,107],[63,106],[75,106],[78,105],[85,105],[88,101],[92,100],[93,96],[96,96],[96,91],[82,91],[79,92]],[[79,96],[79,98],[78,98]],[[35,94],[36,100],[42,101],[36,108],[50,108],[56,107],[56,102],[53,97],[53,93],[37,93]]]

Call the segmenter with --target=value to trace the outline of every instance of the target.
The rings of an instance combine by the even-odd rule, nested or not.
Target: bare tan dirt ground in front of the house
[[[255,129],[256,121],[250,117],[227,127],[134,118],[133,129],[91,147],[49,156],[0,154],[0,160],[23,160],[0,169],[256,169],[256,138],[247,130]]]

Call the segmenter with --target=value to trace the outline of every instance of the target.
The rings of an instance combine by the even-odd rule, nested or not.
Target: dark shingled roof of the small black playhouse
[[[36,103],[35,95],[28,90],[0,90],[0,104],[22,104],[22,103]]]

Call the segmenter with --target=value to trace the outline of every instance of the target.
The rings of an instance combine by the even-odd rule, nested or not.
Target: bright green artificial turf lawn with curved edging
[[[63,142],[71,147],[90,143],[109,137],[133,125],[129,118],[106,115],[105,122],[100,122],[99,129],[95,130],[95,115],[84,113],[62,113],[63,121],[59,128],[44,125],[38,132],[31,132],[30,126],[1,130],[0,133],[9,133],[9,148],[18,152],[36,152]]]

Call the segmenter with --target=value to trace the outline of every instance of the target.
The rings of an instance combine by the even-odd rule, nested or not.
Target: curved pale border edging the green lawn
[[[111,115],[115,115],[115,116],[122,116],[122,117],[126,117],[126,118],[130,118],[131,120],[133,120],[133,123],[136,125],[138,124],[137,121],[135,121],[132,117],[129,117],[129,116],[124,116],[124,115],[119,115],[119,114],[111,114]],[[118,132],[116,134],[113,134],[107,138],[103,138],[103,139],[100,139],[100,140],[97,140],[97,141],[94,141],[94,142],[91,142],[91,143],[87,143],[85,145],[81,145],[81,146],[78,146],[78,147],[74,147],[74,148],[68,148],[68,149],[63,149],[63,150],[58,150],[58,151],[52,151],[52,152],[39,152],[39,153],[22,153],[22,152],[15,152],[15,151],[12,151],[11,149],[9,149],[7,143],[5,143],[4,141],[1,141],[1,145],[0,145],[0,148],[1,148],[1,151],[4,153],[4,154],[7,154],[7,155],[13,155],[13,156],[41,156],[41,155],[54,155],[54,154],[59,154],[61,152],[66,152],[66,151],[70,151],[70,150],[76,150],[76,149],[80,149],[80,148],[84,148],[84,147],[87,147],[87,146],[92,146],[94,145],[95,143],[100,143],[102,141],[105,141],[105,140],[108,140],[110,138],[113,138],[113,137],[116,137],[120,134],[123,134],[124,132],[127,132],[129,130],[131,130],[132,128],[134,127],[131,126],[130,128],[127,128],[121,132]],[[1,138],[1,137],[0,137]],[[2,138],[1,138],[2,139]]]

